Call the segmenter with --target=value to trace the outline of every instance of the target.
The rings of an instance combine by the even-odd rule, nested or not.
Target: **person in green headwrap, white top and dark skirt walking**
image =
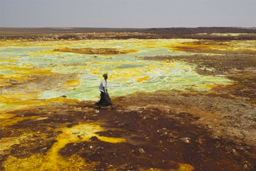
[[[104,80],[101,81],[100,83],[100,101],[95,103],[97,107],[97,109],[102,109],[101,107],[106,107],[106,106],[111,106],[111,109],[117,109],[116,107],[113,106],[110,96],[107,93],[107,74],[103,75]]]

